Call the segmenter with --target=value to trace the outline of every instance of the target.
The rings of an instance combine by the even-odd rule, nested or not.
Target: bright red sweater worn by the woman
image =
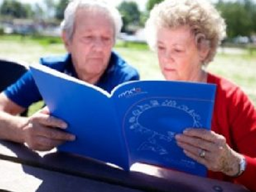
[[[243,154],[247,166],[244,173],[228,177],[220,172],[208,172],[208,177],[243,184],[256,192],[256,109],[248,96],[235,84],[208,74],[208,83],[217,85],[212,130],[225,136],[227,144]]]

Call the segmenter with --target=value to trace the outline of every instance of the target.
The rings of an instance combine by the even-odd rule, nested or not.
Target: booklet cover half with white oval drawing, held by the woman
[[[115,90],[129,162],[144,162],[205,176],[206,168],[188,158],[174,136],[185,128],[210,129],[215,85],[138,81]]]

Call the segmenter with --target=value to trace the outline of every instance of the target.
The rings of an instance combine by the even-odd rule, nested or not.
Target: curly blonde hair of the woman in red
[[[189,26],[197,44],[207,42],[210,51],[205,65],[213,60],[218,45],[226,37],[224,19],[207,0],[164,0],[154,6],[146,21],[146,39],[150,48],[156,50],[159,28],[179,26]]]

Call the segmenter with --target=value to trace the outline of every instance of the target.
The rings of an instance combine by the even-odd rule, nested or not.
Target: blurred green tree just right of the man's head
[[[118,10],[122,14],[123,19],[123,31],[128,30],[128,26],[138,26],[140,23],[140,11],[136,2],[123,1],[119,6]]]

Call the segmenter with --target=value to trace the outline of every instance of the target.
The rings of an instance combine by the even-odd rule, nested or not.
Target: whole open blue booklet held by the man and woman
[[[135,162],[206,176],[174,136],[185,128],[210,129],[216,86],[132,81],[111,94],[42,65],[30,67],[53,116],[68,123],[74,142],[58,148],[129,170]]]

